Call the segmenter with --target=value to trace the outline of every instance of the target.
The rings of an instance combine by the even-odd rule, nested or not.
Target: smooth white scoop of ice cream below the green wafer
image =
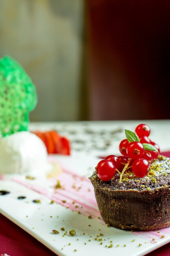
[[[0,173],[32,173],[49,170],[44,143],[31,132],[16,132],[0,139]]]

